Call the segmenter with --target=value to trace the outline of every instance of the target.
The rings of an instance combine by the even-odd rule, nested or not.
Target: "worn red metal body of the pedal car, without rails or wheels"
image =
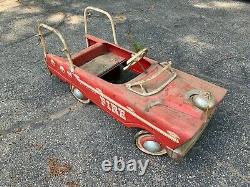
[[[184,156],[198,139],[226,90],[174,69],[177,76],[164,89],[150,96],[141,96],[129,90],[125,84],[110,83],[79,67],[107,52],[124,61],[132,56],[131,51],[118,45],[92,35],[86,37],[89,47],[72,56],[73,72],[67,59],[46,54],[49,71],[78,88],[85,97],[126,127],[145,129],[153,134],[173,158]],[[143,57],[130,70],[143,77],[144,69],[150,74],[158,67],[160,65],[156,61]],[[196,107],[186,98],[186,93],[192,89],[211,92],[216,106],[209,111]],[[151,106],[155,101],[160,104]]]

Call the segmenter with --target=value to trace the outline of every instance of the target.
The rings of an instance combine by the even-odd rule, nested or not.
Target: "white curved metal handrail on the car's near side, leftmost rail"
[[[70,71],[74,72],[74,65],[73,65],[73,61],[72,61],[72,58],[71,58],[71,55],[70,55],[70,52],[69,52],[69,48],[68,48],[68,45],[65,42],[65,39],[63,38],[62,34],[58,30],[56,30],[56,29],[54,29],[54,28],[52,28],[52,27],[50,27],[50,26],[48,26],[46,24],[41,23],[38,26],[38,33],[39,33],[41,44],[42,44],[42,47],[43,47],[43,50],[44,50],[44,56],[46,56],[46,54],[48,54],[48,47],[47,47],[46,42],[45,42],[45,37],[44,37],[44,33],[42,31],[42,28],[53,32],[54,34],[56,34],[59,37],[59,39],[61,40],[61,42],[63,44],[63,47],[64,47],[63,52],[65,53],[65,55],[66,55],[66,57],[68,59]]]

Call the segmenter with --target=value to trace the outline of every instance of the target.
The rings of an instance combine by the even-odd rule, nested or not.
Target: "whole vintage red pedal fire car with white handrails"
[[[105,14],[114,43],[87,33],[88,11]],[[151,155],[183,157],[197,141],[222,101],[226,90],[145,57],[147,49],[133,53],[120,47],[110,14],[99,8],[84,11],[87,48],[71,56],[59,31],[38,27],[48,70],[70,85],[82,103],[92,101],[126,127],[142,129],[137,147]],[[43,30],[61,40],[66,58],[48,53]]]

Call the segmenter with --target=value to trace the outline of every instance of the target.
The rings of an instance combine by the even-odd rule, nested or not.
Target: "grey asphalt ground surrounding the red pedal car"
[[[181,161],[143,154],[133,143],[137,129],[79,104],[48,75],[38,23],[59,29],[77,52],[86,46],[82,12],[89,5],[115,17],[121,46],[139,43],[149,57],[228,89]],[[102,16],[90,19],[91,32],[112,40]],[[60,49],[53,35],[48,44]],[[0,186],[249,186],[249,49],[249,2],[0,0]],[[148,159],[146,173],[104,172],[102,162],[114,156]],[[57,162],[65,171],[58,176],[49,169]]]

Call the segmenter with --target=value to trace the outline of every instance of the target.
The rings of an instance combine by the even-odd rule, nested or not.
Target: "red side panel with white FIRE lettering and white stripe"
[[[112,88],[110,84],[105,83],[105,81],[80,68],[76,68],[75,72],[71,73],[67,61],[55,55],[47,55],[47,64],[51,73],[70,85],[77,87],[93,103],[126,127],[138,127],[149,131],[168,149],[174,149],[178,146],[178,142],[171,140],[171,137],[167,137],[165,132],[140,117],[136,111],[121,101],[115,95],[115,91],[111,95],[104,89],[106,87],[109,90],[117,90],[117,86],[114,85]]]

